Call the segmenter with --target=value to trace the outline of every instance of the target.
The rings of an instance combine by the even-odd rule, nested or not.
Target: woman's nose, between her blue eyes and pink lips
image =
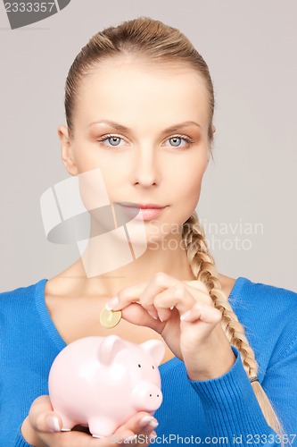
[[[160,170],[158,164],[158,154],[149,145],[136,148],[132,179],[135,186],[150,188],[160,182]]]

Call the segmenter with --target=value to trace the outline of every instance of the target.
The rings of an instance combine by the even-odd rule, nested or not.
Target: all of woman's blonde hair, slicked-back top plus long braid
[[[164,25],[161,21],[145,17],[125,21],[117,27],[96,33],[75,58],[65,85],[65,113],[70,136],[74,134],[73,116],[81,83],[100,62],[123,55],[132,55],[159,64],[185,63],[200,72],[208,92],[209,139],[212,140],[214,92],[207,64],[202,55],[179,30]],[[221,324],[227,338],[240,351],[246,374],[252,378],[258,373],[257,361],[244,334],[243,325],[239,323],[227,296],[222,291],[213,257],[210,255],[202,227],[195,213],[184,223],[183,240],[194,276],[198,281],[206,284],[214,306],[222,314]],[[276,413],[259,382],[252,382],[252,388],[268,425],[276,433],[281,434],[282,428]]]

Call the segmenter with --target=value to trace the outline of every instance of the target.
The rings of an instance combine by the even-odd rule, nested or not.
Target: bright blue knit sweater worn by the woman
[[[65,347],[45,306],[45,282],[0,294],[0,447],[28,447],[21,423],[47,394],[49,369]],[[287,437],[297,445],[297,294],[237,279],[230,302],[260,365],[259,379]],[[163,403],[155,443],[279,445],[262,416],[235,350],[235,365],[217,379],[193,382],[182,361],[160,367]]]

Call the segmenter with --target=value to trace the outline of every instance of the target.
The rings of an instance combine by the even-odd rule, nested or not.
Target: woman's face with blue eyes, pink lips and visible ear
[[[149,240],[177,234],[197,205],[210,157],[200,74],[186,65],[107,60],[81,85],[73,124],[70,140],[60,128],[68,171],[100,168],[111,202],[140,208]]]

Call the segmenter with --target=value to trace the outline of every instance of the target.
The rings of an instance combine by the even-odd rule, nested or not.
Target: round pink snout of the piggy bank
[[[159,409],[162,399],[161,389],[154,384],[138,384],[132,392],[132,401],[138,410]]]

